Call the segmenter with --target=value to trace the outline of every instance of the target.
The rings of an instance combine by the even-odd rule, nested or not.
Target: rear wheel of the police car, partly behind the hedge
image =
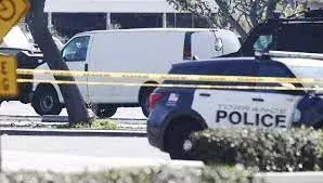
[[[190,121],[186,121],[190,122]],[[166,149],[171,159],[194,160],[190,134],[203,130],[197,123],[185,123],[183,121],[173,125],[166,133]],[[191,147],[190,147],[191,145]],[[184,149],[186,146],[186,151]]]

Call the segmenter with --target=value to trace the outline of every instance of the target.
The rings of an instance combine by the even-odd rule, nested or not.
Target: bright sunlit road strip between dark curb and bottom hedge
[[[2,149],[94,157],[166,158],[146,138],[2,135]]]

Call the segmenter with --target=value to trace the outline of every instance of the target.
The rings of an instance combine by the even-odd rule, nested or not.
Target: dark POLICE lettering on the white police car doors
[[[233,126],[287,127],[287,109],[279,107],[250,107],[248,105],[218,104],[216,122],[229,121]]]

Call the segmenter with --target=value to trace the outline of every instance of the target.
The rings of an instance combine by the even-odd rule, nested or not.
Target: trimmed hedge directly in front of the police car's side
[[[241,164],[260,171],[323,170],[323,132],[312,129],[214,129],[194,133],[193,152],[207,165]]]

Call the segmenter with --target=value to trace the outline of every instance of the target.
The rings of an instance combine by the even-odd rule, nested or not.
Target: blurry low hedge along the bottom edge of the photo
[[[248,183],[251,171],[242,167],[137,168],[82,173],[5,172],[1,183]]]

